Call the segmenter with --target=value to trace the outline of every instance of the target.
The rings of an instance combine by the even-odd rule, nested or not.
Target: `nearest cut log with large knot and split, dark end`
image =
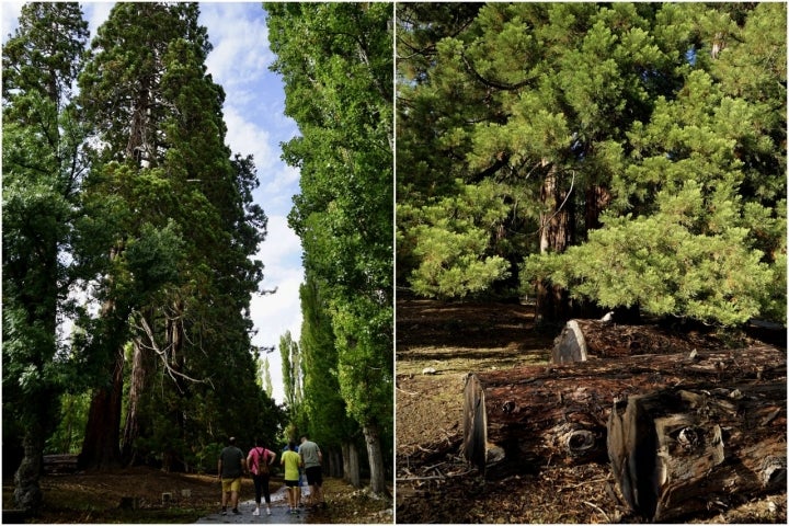
[[[667,388],[616,402],[608,455],[630,507],[675,521],[786,489],[786,380]]]

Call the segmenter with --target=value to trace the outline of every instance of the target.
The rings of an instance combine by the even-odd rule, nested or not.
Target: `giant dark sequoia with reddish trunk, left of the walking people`
[[[91,467],[121,460],[127,341],[124,461],[161,454],[165,467],[185,467],[187,444],[221,439],[219,408],[250,404],[225,415],[232,424],[265,404],[249,302],[266,218],[252,204],[251,158],[225,146],[225,95],[205,72],[210,44],[197,18],[194,3],[115,5],[80,77],[96,134],[85,201],[117,217],[89,342],[105,364],[82,451]],[[167,387],[149,389],[160,377]]]

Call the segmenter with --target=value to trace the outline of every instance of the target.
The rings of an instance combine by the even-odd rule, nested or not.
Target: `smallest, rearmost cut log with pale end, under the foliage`
[[[617,325],[602,320],[570,320],[553,341],[553,364],[639,354],[689,353],[720,346],[714,338],[677,334],[658,325]]]

